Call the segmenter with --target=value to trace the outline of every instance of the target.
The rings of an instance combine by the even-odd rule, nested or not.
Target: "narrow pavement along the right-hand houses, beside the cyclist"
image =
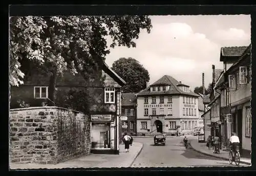
[[[208,149],[208,147],[206,146],[206,143],[199,143],[198,140],[191,140],[190,146],[199,153],[220,158],[223,160],[228,160],[228,154],[229,154],[228,150],[220,149],[220,154],[214,154],[214,150]],[[240,163],[251,165],[251,159],[240,158]]]

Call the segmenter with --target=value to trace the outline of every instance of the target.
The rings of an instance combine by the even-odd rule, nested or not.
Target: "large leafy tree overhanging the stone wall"
[[[100,68],[110,53],[105,36],[111,36],[111,47],[135,47],[140,30],[150,33],[151,28],[148,16],[11,17],[10,84],[23,84],[31,68],[44,71],[49,74],[49,98],[54,101],[57,76],[79,72],[88,80]]]

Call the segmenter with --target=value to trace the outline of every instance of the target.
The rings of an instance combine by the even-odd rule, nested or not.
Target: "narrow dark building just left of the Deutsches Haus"
[[[127,120],[121,120],[120,130],[121,136],[124,133],[130,135],[136,135],[136,93],[122,93],[122,107],[121,107],[121,116],[127,117]],[[121,137],[120,136],[120,137]]]

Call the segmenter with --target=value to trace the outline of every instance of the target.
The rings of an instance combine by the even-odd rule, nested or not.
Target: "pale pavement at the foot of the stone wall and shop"
[[[125,153],[124,145],[119,145],[119,155],[91,154],[58,164],[16,164],[10,163],[10,169],[58,169],[58,168],[90,168],[90,167],[130,167],[141,152],[143,144],[133,142],[129,153]]]

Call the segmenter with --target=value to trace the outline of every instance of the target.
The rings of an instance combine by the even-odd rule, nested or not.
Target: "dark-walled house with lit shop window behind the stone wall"
[[[24,85],[11,88],[11,109],[17,108],[17,102],[20,99],[30,107],[45,106],[45,104],[52,106],[50,104],[52,100],[48,98],[49,76],[38,70],[34,71],[29,78],[24,80]],[[68,92],[73,90],[80,92],[87,90],[88,94],[79,93],[77,98],[79,96],[88,97],[89,107],[84,113],[90,116],[91,153],[119,154],[118,128],[121,114],[121,87],[126,83],[105,63],[100,70],[100,77],[104,77],[102,84],[99,84],[100,81],[97,80],[96,74],[98,73],[92,76],[89,83],[80,74],[73,76],[67,72],[63,74],[63,77],[58,77],[56,103],[54,104],[58,107],[70,108],[66,107],[65,100],[61,100],[61,98],[65,98]],[[70,98],[66,97],[66,100]]]

